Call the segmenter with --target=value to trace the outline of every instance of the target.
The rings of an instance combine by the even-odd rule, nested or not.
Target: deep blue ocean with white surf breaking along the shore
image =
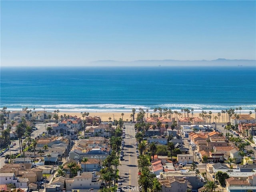
[[[256,108],[256,68],[1,68],[0,107],[62,112]]]

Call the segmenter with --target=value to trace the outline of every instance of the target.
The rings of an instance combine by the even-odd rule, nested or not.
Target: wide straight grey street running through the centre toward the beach
[[[122,185],[119,186],[123,191],[139,191],[138,187],[138,165],[136,156],[136,139],[134,124],[125,124],[124,138],[124,160],[120,161],[120,179]],[[125,173],[128,173],[127,175]]]

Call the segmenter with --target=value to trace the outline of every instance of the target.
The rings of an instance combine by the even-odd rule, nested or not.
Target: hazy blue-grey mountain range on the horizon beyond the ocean
[[[90,62],[90,64],[93,66],[256,66],[256,60],[229,60],[224,58],[216,60],[98,60]]]

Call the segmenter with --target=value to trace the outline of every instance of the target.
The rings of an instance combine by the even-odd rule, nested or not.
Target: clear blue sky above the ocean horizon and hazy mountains
[[[256,1],[3,1],[1,66],[256,59]]]

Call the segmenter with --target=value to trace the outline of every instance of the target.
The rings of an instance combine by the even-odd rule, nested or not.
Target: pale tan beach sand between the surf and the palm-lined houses
[[[59,116],[66,114],[66,115],[71,115],[71,116],[77,116],[78,118],[80,117],[81,119],[83,119],[81,112],[61,112],[60,111],[58,114],[59,114]],[[130,121],[132,119],[131,118],[132,111],[130,113],[124,112],[123,117],[122,117],[121,114],[122,114],[122,112],[119,112],[119,113],[117,113],[117,112],[89,112],[89,116],[92,116],[92,117],[99,116],[103,122],[104,121],[109,121],[109,118],[111,118],[110,121],[113,121],[113,119],[119,120],[120,118],[122,118],[124,121],[126,121],[126,120]],[[136,120],[137,114],[138,113],[135,113],[135,115],[134,115],[135,120]],[[156,114],[158,114],[158,113],[156,113]],[[200,113],[194,113],[193,117],[200,118],[199,114]],[[239,112],[238,112],[238,114],[239,114]],[[248,114],[248,113],[241,113],[241,114]],[[190,112],[189,115],[190,115],[190,117],[192,117],[191,112]],[[184,112],[183,112],[183,116],[184,116]],[[216,119],[216,120],[213,117],[214,116],[218,117],[218,113],[212,113],[211,116],[212,116],[211,122],[215,122],[215,121],[217,123],[218,122],[227,122],[226,113],[224,114],[223,121],[222,121],[222,114],[220,115],[220,119]],[[147,113],[145,114],[145,117],[147,118]],[[150,112],[148,112],[148,117],[150,117]],[[173,114],[173,117],[174,117],[174,114]]]

